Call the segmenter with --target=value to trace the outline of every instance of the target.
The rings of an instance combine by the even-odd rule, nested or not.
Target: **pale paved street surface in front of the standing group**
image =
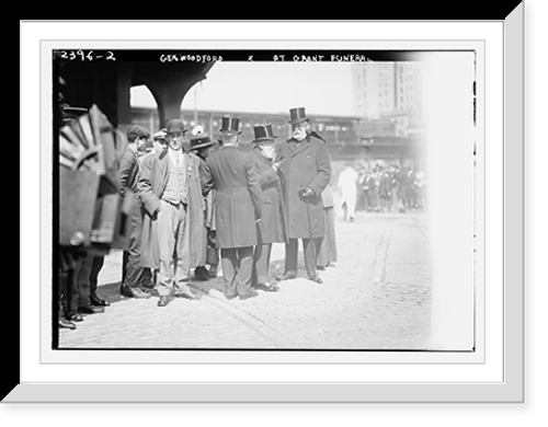
[[[77,330],[59,331],[60,348],[424,349],[430,338],[431,265],[427,216],[357,212],[336,220],[339,262],[320,272],[322,285],[299,276],[279,292],[226,300],[222,278],[193,281],[203,298],[157,307],[119,296],[122,253],[100,274],[99,295],[111,302]],[[275,244],[271,275],[283,272]]]

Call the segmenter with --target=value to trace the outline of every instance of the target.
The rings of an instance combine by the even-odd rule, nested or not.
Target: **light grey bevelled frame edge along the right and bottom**
[[[517,13],[516,13],[517,12]],[[506,20],[505,25],[504,25],[504,37],[505,37],[505,54],[504,54],[504,60],[505,60],[505,66],[510,65],[509,62],[512,62],[512,66],[514,67],[513,76],[516,76],[517,79],[521,76],[522,69],[520,68],[523,62],[520,61],[520,59],[523,57],[523,25],[524,25],[524,5],[522,4],[518,7],[513,13],[513,19],[512,20]],[[516,18],[517,16],[517,18]],[[509,16],[510,18],[510,16]],[[516,22],[514,22],[516,21]],[[512,23],[512,25],[511,25]],[[516,27],[517,28],[517,34],[516,35],[510,35],[510,31]],[[510,41],[514,42],[517,44],[517,46],[511,47]],[[513,49],[513,50],[509,50]],[[510,58],[517,58],[517,60],[510,61]],[[515,67],[517,67],[517,71],[515,70]],[[509,78],[509,68],[505,68],[505,79],[507,81]],[[523,247],[522,245],[522,240],[523,235],[521,234],[521,227],[516,227],[516,222],[512,222],[512,231],[514,231],[514,234],[512,235],[509,233],[509,219],[516,219],[518,221],[521,217],[521,208],[523,205],[521,204],[513,204],[510,206],[509,200],[513,199],[515,200],[516,197],[515,195],[510,196],[507,194],[509,191],[513,189],[514,192],[517,191],[523,191],[523,187],[520,186],[520,183],[523,182],[523,174],[521,174],[520,166],[521,164],[515,164],[520,159],[523,158],[520,157],[521,152],[523,151],[523,143],[515,143],[514,141],[516,140],[523,140],[523,123],[520,123],[520,118],[523,116],[523,111],[516,109],[520,108],[520,105],[523,105],[521,103],[521,97],[523,97],[523,91],[522,88],[518,84],[515,84],[516,79],[512,80],[512,85],[506,85],[505,91],[504,91],[504,102],[505,102],[505,131],[507,132],[507,126],[510,126],[510,123],[517,123],[517,128],[518,130],[514,134],[513,136],[513,143],[512,143],[512,151],[509,150],[509,138],[507,134],[505,136],[505,147],[504,147],[504,154],[505,154],[505,162],[510,161],[509,159],[512,159],[512,181],[509,180],[507,172],[509,168],[505,168],[506,176],[504,184],[507,184],[509,182],[512,182],[517,188],[509,188],[509,186],[505,186],[506,194],[504,196],[504,204],[506,211],[504,214],[504,220],[505,220],[505,236],[504,236],[504,244],[505,244],[505,252],[504,252],[504,257],[505,257],[505,265],[504,265],[504,270],[507,273],[507,269],[511,268],[511,265],[516,265],[517,264],[517,273],[514,273],[513,280],[523,280],[523,272],[520,268],[523,268],[523,265],[520,264],[520,261],[523,259],[523,253],[518,253],[517,256],[515,255],[516,252],[515,250],[520,250]],[[523,81],[523,77],[521,79]],[[509,90],[510,89],[510,90]],[[513,94],[512,94],[513,90]],[[514,100],[512,96],[516,96],[517,99]],[[522,126],[520,128],[520,126]],[[522,151],[520,151],[522,150]],[[512,152],[512,157],[509,154]],[[514,155],[515,154],[515,155]],[[507,163],[505,163],[505,166],[507,166]],[[517,171],[517,176],[514,176]],[[522,200],[523,196],[517,196],[518,200]],[[512,217],[509,217],[507,208],[514,208],[514,210],[517,208],[518,212],[517,214],[512,214]],[[522,222],[517,222],[517,224],[521,224]],[[517,234],[516,234],[517,233]],[[517,239],[517,242],[513,242],[513,239]],[[511,242],[511,243],[510,243]],[[510,243],[510,245],[509,245]],[[515,244],[514,244],[515,243]],[[510,249],[512,249],[510,251]],[[512,262],[511,262],[512,261]],[[507,277],[504,281],[504,285],[507,285]],[[521,326],[523,326],[523,318],[520,316],[520,313],[523,314],[523,310],[521,308],[515,308],[514,305],[520,301],[523,301],[523,295],[520,293],[523,292],[523,287],[513,287],[513,289],[517,288],[517,295],[513,295],[512,298],[510,299],[509,297],[509,289],[506,287],[505,293],[504,293],[504,302],[505,302],[505,323],[504,323],[504,333],[507,335],[510,332],[513,331],[514,336],[509,339],[506,336],[504,339],[504,345],[506,346],[505,353],[504,353],[504,381],[499,382],[498,384],[495,383],[484,383],[483,385],[487,385],[488,389],[491,391],[489,394],[486,394],[486,388],[482,389],[481,393],[477,393],[476,397],[478,399],[483,399],[483,400],[493,400],[499,396],[499,399],[509,399],[512,396],[515,402],[518,402],[521,397],[523,397],[523,381],[520,381],[521,372],[515,371],[515,368],[517,367],[518,369],[521,368],[520,362],[523,363],[523,355],[517,355],[517,356],[512,356],[511,359],[509,359],[509,343],[512,343],[520,353],[520,350],[523,350],[521,346],[516,346],[517,343],[523,343],[520,342],[520,339],[515,335],[523,334],[523,331]],[[514,298],[515,297],[515,298]],[[517,319],[513,319],[512,322],[507,321],[507,314],[510,313],[509,310],[509,302],[512,302],[512,312],[515,314],[517,311]],[[509,325],[512,325],[511,328],[509,328]],[[27,348],[25,345],[22,343],[22,365],[23,362],[23,353],[24,349]],[[514,350],[515,351],[515,350]],[[512,365],[510,365],[512,362]],[[509,376],[510,371],[509,368],[514,368],[514,371]],[[22,366],[23,370],[23,366]],[[70,370],[70,369],[68,369]],[[260,384],[260,383],[218,383],[218,382],[209,382],[207,384],[204,383],[196,383],[196,382],[189,382],[185,384],[78,384],[78,383],[70,383],[70,384],[65,384],[68,385],[69,388],[72,389],[72,393],[67,393],[67,391],[64,391],[62,389],[66,389],[66,386],[62,383],[58,384],[46,384],[42,383],[38,384],[36,382],[32,381],[32,378],[27,378],[26,382],[20,384],[20,386],[15,388],[14,392],[12,393],[8,399],[4,400],[4,403],[21,403],[24,402],[25,399],[30,400],[55,400],[59,399],[60,401],[66,400],[66,401],[71,401],[76,399],[77,401],[87,401],[87,397],[90,399],[90,401],[93,400],[101,400],[101,401],[110,401],[107,397],[111,395],[114,400],[116,399],[123,399],[132,401],[135,399],[137,402],[138,401],[147,401],[150,399],[150,396],[155,396],[155,401],[158,400],[159,402],[162,401],[249,401],[249,402],[254,402],[254,401],[316,401],[316,402],[324,402],[326,400],[328,401],[370,401],[370,402],[383,402],[383,401],[439,401],[444,399],[449,399],[447,395],[447,391],[453,390],[453,397],[455,397],[457,401],[463,401],[463,400],[468,400],[471,399],[471,394],[469,391],[464,392],[464,389],[466,389],[466,385],[469,384],[431,384],[432,386],[427,386],[426,389],[423,388],[423,390],[416,394],[416,386],[421,386],[420,384],[402,384],[397,381],[392,381],[391,384],[387,383],[377,383],[377,382],[372,382],[372,383],[345,383],[342,384],[340,383],[340,380],[336,380],[336,377],[333,378],[333,381],[331,384],[326,384],[326,383],[275,383],[275,384]],[[39,381],[37,381],[39,382]],[[512,384],[514,389],[512,389],[512,393],[507,393],[507,390],[510,388],[505,388],[504,392],[502,393],[503,396],[501,396],[501,393],[495,393],[493,388],[496,388],[496,385],[509,385]],[[517,384],[517,386],[516,386]],[[21,386],[23,385],[23,386]],[[25,388],[26,385],[26,388]],[[44,394],[45,386],[52,385],[54,389],[55,394]],[[395,385],[397,385],[396,393],[395,393]],[[422,384],[426,385],[426,384]],[[32,391],[34,386],[34,391]],[[95,394],[99,389],[101,388],[106,388],[106,394],[102,391],[101,394]],[[126,388],[129,391],[121,394],[121,388]],[[142,388],[147,389],[147,392],[142,392]],[[150,390],[153,388],[158,388],[156,391]],[[174,388],[178,389],[176,394],[172,394]],[[449,388],[449,389],[448,389]],[[27,396],[24,397],[24,391],[23,389],[26,389]],[[228,392],[228,389],[230,389],[230,392]],[[343,393],[343,389],[345,389],[345,392]],[[500,389],[500,388],[499,388]],[[19,390],[19,391],[18,391]],[[85,391],[87,390],[87,391]],[[162,392],[163,390],[163,392]],[[517,390],[517,391],[516,391]],[[76,393],[75,393],[76,391]],[[165,394],[168,392],[168,394]],[[413,394],[411,394],[411,393]],[[23,394],[21,394],[23,393]],[[33,394],[34,393],[34,394]],[[137,394],[139,393],[139,394]],[[450,393],[450,392],[449,392]],[[494,394],[493,394],[494,393]],[[72,395],[72,397],[70,397]],[[39,396],[39,397],[38,397]],[[98,397],[101,396],[101,397]],[[114,397],[116,396],[116,397]],[[123,397],[121,397],[123,396]],[[140,397],[139,397],[140,396]],[[162,397],[163,396],[163,397]],[[176,396],[176,397],[175,397]],[[230,397],[227,397],[230,396]],[[11,401],[11,402],[10,402]]]

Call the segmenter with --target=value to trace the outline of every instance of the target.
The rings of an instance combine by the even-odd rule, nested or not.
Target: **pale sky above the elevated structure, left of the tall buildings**
[[[353,115],[351,94],[347,62],[220,61],[187,92],[182,108],[288,113],[305,106],[308,114],[345,116]],[[156,107],[145,86],[133,88],[130,96],[133,106]]]

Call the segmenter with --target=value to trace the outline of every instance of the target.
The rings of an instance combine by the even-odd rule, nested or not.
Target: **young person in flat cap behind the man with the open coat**
[[[140,171],[139,157],[146,150],[150,132],[142,126],[132,125],[126,130],[126,138],[127,149],[119,161],[119,189],[123,195],[127,188],[137,195]],[[121,285],[121,293],[129,298],[150,298],[150,293],[142,288],[145,272],[140,266],[141,209],[139,197],[135,197],[132,206],[129,246],[127,251],[124,251]]]

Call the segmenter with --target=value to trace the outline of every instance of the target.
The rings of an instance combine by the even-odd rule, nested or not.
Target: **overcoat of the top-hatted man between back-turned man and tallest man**
[[[283,188],[279,175],[259,147],[251,150],[261,182],[261,221],[256,224],[259,244],[286,241]]]

